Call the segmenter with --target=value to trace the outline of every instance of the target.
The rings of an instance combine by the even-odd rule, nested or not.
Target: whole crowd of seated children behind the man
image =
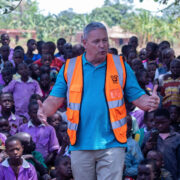
[[[21,46],[10,48],[8,34],[0,36],[0,43],[0,180],[72,180],[66,104],[44,125],[37,117],[37,100],[47,98],[63,64],[83,54],[84,47],[64,38],[57,45],[29,39],[25,52]],[[180,180],[180,59],[168,41],[137,49],[133,36],[120,55],[146,94],[158,85],[161,101],[153,112],[126,102],[123,179]],[[116,48],[109,53],[119,54]]]

